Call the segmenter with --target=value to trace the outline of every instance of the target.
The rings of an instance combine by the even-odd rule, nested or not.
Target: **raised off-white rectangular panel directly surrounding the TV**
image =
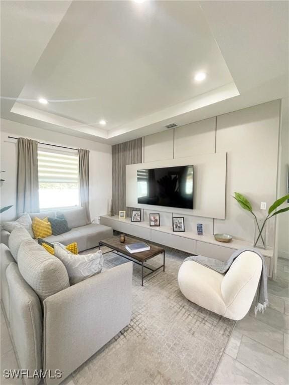
[[[137,203],[137,170],[194,165],[194,209],[140,205]],[[126,166],[126,206],[151,212],[169,212],[207,218],[225,218],[226,153],[195,155],[187,158],[159,160]]]

